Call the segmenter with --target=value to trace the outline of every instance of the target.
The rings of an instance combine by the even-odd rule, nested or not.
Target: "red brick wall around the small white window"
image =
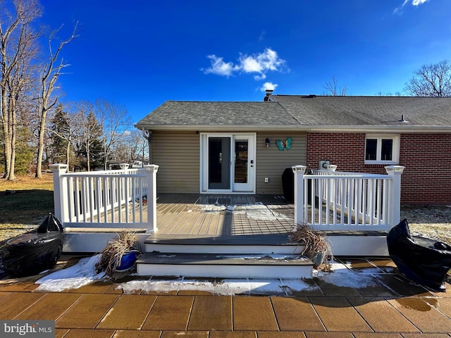
[[[307,166],[319,161],[339,171],[386,174],[385,165],[365,165],[365,134],[311,132],[307,134]],[[451,204],[451,135],[401,134],[402,204]]]

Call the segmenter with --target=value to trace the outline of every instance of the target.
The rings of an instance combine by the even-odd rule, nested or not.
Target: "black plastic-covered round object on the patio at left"
[[[63,251],[63,239],[63,226],[49,214],[35,232],[8,239],[3,253],[6,273],[25,277],[54,268]]]

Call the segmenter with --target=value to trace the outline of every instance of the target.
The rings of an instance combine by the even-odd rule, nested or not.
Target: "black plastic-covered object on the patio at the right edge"
[[[407,220],[387,235],[388,253],[409,280],[436,291],[445,291],[445,277],[451,268],[451,246],[410,234]]]

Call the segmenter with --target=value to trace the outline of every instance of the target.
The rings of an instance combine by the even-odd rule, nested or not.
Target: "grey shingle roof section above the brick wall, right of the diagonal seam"
[[[450,97],[274,95],[301,125],[451,126]]]

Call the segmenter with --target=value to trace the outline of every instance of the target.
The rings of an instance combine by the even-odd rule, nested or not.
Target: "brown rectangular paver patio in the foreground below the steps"
[[[450,284],[432,292],[405,280],[388,259],[347,261],[357,274],[369,265],[381,270],[375,285],[344,287],[316,277],[316,288],[292,296],[123,293],[121,282],[135,276],[51,293],[36,292],[37,277],[4,279],[0,318],[55,320],[58,338],[451,337]]]

